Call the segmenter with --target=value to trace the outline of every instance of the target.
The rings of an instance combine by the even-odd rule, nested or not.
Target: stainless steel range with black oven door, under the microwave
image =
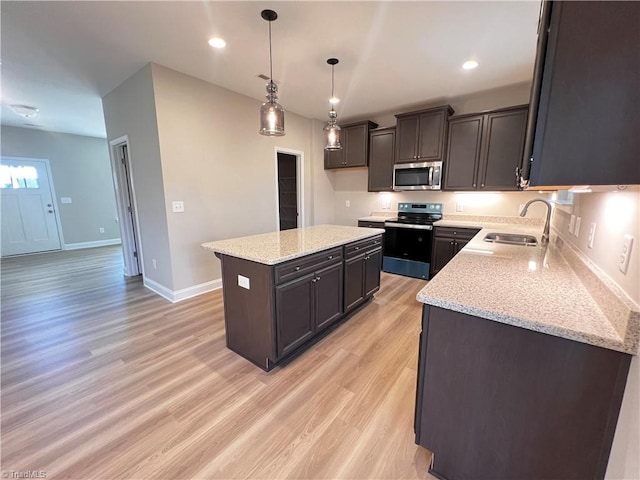
[[[428,280],[433,222],[441,218],[441,203],[399,203],[398,217],[384,222],[382,270]]]

